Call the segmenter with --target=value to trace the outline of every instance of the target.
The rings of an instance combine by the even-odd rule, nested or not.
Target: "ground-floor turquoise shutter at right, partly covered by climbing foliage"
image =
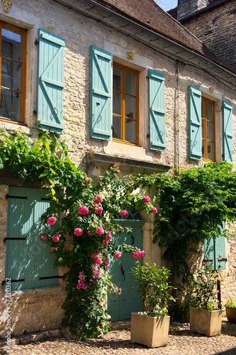
[[[225,228],[224,224],[220,226],[221,231]],[[225,237],[218,236],[215,238],[210,238],[204,243],[204,259],[209,260],[213,264],[215,270],[225,269],[225,261],[219,261],[220,258],[225,259]]]

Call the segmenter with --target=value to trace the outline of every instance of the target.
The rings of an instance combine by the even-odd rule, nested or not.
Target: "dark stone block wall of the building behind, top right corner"
[[[189,3],[189,1],[185,1]],[[225,1],[213,9],[181,21],[218,57],[236,70],[236,1]],[[193,13],[193,11],[192,11]]]

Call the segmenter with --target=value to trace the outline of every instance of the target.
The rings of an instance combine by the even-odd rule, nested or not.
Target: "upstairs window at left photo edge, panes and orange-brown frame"
[[[0,21],[1,102],[4,121],[24,120],[26,99],[26,33],[23,28]]]

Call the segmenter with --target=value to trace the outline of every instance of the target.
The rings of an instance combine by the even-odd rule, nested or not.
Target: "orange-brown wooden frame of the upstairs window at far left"
[[[6,30],[18,33],[22,35],[22,72],[21,72],[21,121],[14,121],[6,117],[0,116],[0,121],[11,122],[11,124],[25,124],[25,114],[26,114],[26,37],[27,30],[25,28],[20,28],[9,23],[0,21],[0,67],[1,67],[1,28],[6,28]],[[17,62],[17,60],[14,60]],[[0,75],[0,94],[1,94],[1,75]]]

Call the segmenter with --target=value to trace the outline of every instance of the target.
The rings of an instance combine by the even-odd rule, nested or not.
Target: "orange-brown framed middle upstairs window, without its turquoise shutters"
[[[138,144],[138,72],[113,64],[113,139]]]

